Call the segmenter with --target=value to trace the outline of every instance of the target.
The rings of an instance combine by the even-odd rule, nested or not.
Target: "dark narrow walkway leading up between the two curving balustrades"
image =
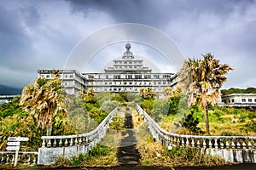
[[[118,148],[117,157],[120,165],[137,165],[140,163],[140,154],[136,148],[137,139],[132,131],[132,116],[130,109],[127,107],[125,112],[125,131],[122,132],[123,139],[121,140]]]

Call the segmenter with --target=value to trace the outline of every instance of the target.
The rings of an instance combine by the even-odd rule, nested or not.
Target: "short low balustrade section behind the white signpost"
[[[18,163],[23,165],[35,165],[38,160],[38,152],[19,152]],[[14,164],[15,151],[0,151],[0,164]]]

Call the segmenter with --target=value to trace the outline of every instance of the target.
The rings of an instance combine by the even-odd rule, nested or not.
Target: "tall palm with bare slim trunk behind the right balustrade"
[[[203,59],[188,59],[179,72],[181,86],[188,89],[189,105],[198,104],[205,109],[207,134],[210,134],[207,104],[215,105],[219,90],[227,80],[224,76],[233,70],[230,65],[221,65],[212,54],[202,55]],[[210,94],[210,95],[208,95]],[[210,97],[208,97],[210,96]]]

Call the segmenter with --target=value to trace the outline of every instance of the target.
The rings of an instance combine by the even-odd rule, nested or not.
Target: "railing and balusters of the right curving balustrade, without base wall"
[[[172,146],[175,145],[215,149],[256,149],[256,137],[197,136],[170,133],[162,129],[157,122],[154,122],[139,105],[137,105],[137,111],[143,115],[144,120],[148,122],[148,130],[153,135],[154,139],[160,141],[168,149],[172,149]]]

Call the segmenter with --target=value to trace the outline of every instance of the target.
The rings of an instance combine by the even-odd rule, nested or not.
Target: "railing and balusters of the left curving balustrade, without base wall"
[[[63,146],[73,146],[81,144],[91,144],[94,146],[99,143],[108,130],[108,123],[112,119],[118,108],[111,111],[108,116],[92,131],[84,134],[67,136],[42,136],[42,148],[55,148]]]

